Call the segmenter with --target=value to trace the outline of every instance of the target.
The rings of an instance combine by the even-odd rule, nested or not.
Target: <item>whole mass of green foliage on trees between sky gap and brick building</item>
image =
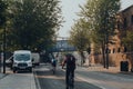
[[[105,57],[104,51],[108,48],[110,37],[114,34],[115,16],[120,10],[120,0],[88,0],[80,8],[80,19],[70,31],[71,43],[78,48],[82,58],[85,49],[90,52],[91,43],[93,43],[94,52],[100,52],[102,48],[103,57]]]

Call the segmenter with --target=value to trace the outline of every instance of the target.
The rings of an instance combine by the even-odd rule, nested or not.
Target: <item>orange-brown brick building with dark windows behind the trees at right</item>
[[[116,17],[114,44],[109,44],[110,66],[119,67],[121,61],[129,61],[130,68],[133,68],[132,52],[125,51],[127,47],[124,47],[121,42],[122,38],[126,36],[126,30],[133,31],[133,6],[120,11]],[[103,62],[102,55],[94,56],[94,60],[95,62]]]

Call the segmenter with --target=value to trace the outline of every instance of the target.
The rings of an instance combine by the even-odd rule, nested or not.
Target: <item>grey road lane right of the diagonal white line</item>
[[[76,73],[80,79],[102,89],[133,89],[133,75],[90,71],[85,68],[79,68]]]

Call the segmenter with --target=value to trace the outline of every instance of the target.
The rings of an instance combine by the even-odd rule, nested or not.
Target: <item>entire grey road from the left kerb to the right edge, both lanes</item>
[[[38,89],[65,89],[65,71],[60,67],[52,75],[50,65],[34,68]],[[75,89],[133,89],[133,77],[122,73],[90,71],[78,67],[75,71]]]

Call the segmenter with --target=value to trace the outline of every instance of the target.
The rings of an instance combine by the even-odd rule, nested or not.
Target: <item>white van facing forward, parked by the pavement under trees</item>
[[[32,56],[29,50],[17,50],[13,53],[13,72],[18,70],[29,70],[32,72]]]

